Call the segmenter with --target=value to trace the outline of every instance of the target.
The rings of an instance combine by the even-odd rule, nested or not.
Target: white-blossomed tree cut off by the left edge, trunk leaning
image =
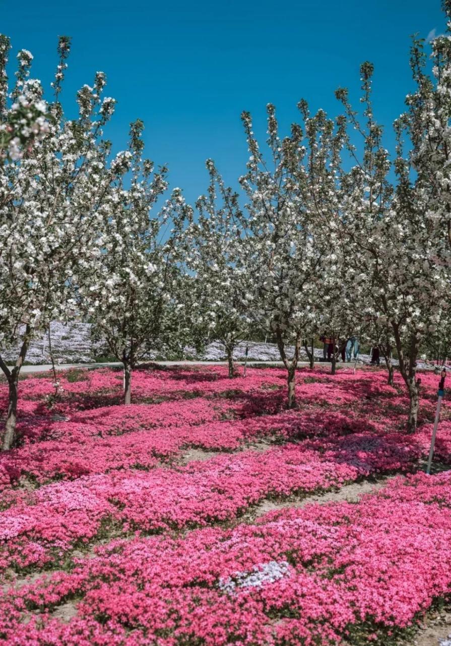
[[[54,99],[48,104],[41,83],[29,76],[30,52],[19,52],[16,82],[8,89],[8,40],[3,37],[0,45],[1,132],[17,130],[17,112],[28,106],[46,117],[45,123],[40,118],[35,123],[32,112],[28,119],[25,114],[23,132],[1,151],[0,347],[21,343],[14,366],[6,366],[0,356],[9,387],[3,436],[7,450],[15,440],[17,384],[30,340],[51,320],[74,317],[76,289],[90,280],[100,256],[93,231],[101,230],[112,183],[128,163],[124,154],[109,166],[106,161],[110,147],[102,132],[114,100],[102,98],[103,73],[97,72],[93,87],[85,85],[77,93],[78,117],[65,119],[59,93],[70,48],[67,37],[59,39]]]

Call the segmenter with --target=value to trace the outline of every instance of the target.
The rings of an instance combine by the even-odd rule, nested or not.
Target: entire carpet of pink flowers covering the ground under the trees
[[[412,643],[451,594],[451,415],[445,400],[443,471],[425,475],[438,379],[421,377],[414,435],[401,380],[371,368],[297,371],[290,411],[276,368],[143,367],[130,406],[121,371],[61,373],[59,397],[48,374],[22,380],[0,455],[0,641]]]

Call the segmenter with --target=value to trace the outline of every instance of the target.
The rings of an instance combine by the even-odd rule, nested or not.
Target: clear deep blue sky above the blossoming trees
[[[125,147],[128,123],[141,118],[147,156],[168,164],[171,185],[189,200],[206,189],[206,158],[214,158],[226,182],[244,172],[243,109],[252,112],[262,139],[269,101],[282,134],[297,119],[302,97],[336,114],[338,85],[357,105],[359,63],[366,59],[376,66],[377,120],[390,125],[412,88],[410,34],[426,37],[445,24],[439,0],[21,0],[20,7],[0,0],[0,9],[12,57],[30,50],[32,76],[47,84],[57,36],[72,36],[66,110],[73,110],[76,89],[103,70],[106,96],[119,101],[106,132],[114,149]]]

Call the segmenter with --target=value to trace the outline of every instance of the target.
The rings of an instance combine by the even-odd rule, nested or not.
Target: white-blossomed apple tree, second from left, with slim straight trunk
[[[92,282],[80,290],[94,335],[124,366],[124,402],[131,402],[132,371],[154,349],[183,348],[185,279],[181,238],[191,209],[179,189],[157,217],[150,211],[166,191],[166,168],[153,173],[141,159],[143,123],[130,128],[131,185],[119,182],[110,194],[102,224],[102,253]],[[168,229],[172,229],[168,232]]]

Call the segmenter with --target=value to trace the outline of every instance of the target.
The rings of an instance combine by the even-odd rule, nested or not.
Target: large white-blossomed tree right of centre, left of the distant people
[[[250,114],[243,112],[250,158],[248,171],[240,178],[247,198],[249,235],[243,244],[254,278],[252,313],[256,323],[276,337],[288,372],[290,408],[296,406],[301,343],[317,332],[325,276],[333,271],[328,222],[341,146],[325,112],[310,117],[305,101],[299,109],[304,128],[292,125],[291,136],[281,140],[274,106],[268,105],[268,163],[252,131]]]

